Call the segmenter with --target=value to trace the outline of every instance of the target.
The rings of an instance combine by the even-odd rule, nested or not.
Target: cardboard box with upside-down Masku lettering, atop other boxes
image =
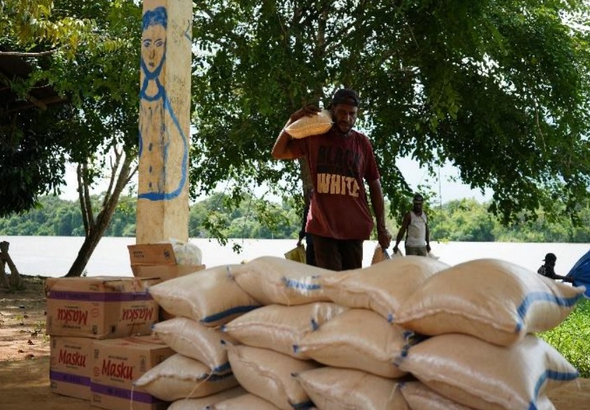
[[[48,278],[46,332],[52,336],[115,339],[150,335],[158,305],[147,288],[160,279]]]

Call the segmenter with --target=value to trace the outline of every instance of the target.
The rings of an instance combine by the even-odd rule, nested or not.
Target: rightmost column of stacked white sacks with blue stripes
[[[394,316],[432,336],[396,359],[424,383],[401,388],[410,408],[451,408],[434,404],[440,395],[453,409],[554,409],[547,391],[577,378],[577,370],[533,333],[559,325],[583,292],[496,259],[438,272]]]

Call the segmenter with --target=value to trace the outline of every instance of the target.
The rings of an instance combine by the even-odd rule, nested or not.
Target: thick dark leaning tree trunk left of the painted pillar
[[[106,193],[105,200],[103,201],[102,210],[96,216],[94,221],[89,221],[89,226],[86,231],[86,237],[82,247],[80,247],[80,251],[78,251],[78,256],[75,258],[75,261],[70,267],[69,272],[66,274],[66,277],[80,277],[86,265],[92,256],[92,252],[96,249],[96,245],[99,244],[101,237],[103,236],[104,231],[108,228],[108,224],[110,223],[110,219],[113,217],[115,210],[117,209],[117,204],[119,203],[119,196],[123,191],[125,185],[129,181],[131,175],[136,172],[136,168],[131,170],[131,157],[125,156],[125,159],[121,166],[120,173],[116,176],[116,184],[110,185],[108,192]],[[116,168],[118,168],[118,159],[117,163],[115,164],[115,168],[113,169],[112,179],[115,178]],[[85,181],[85,184],[87,182]],[[111,191],[112,186],[112,192]],[[80,191],[82,188],[87,189],[87,186],[82,187],[79,186]],[[90,204],[86,204],[90,206]],[[89,214],[88,210],[85,209],[85,204],[80,203],[80,210],[82,214]]]

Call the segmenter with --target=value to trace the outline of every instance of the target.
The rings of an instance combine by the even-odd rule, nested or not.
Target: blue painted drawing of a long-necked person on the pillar
[[[169,200],[179,196],[187,180],[187,138],[160,81],[166,71],[167,20],[164,7],[143,14],[138,198],[148,200]],[[182,161],[180,172],[173,173],[178,175],[173,181],[168,170],[171,161]]]

